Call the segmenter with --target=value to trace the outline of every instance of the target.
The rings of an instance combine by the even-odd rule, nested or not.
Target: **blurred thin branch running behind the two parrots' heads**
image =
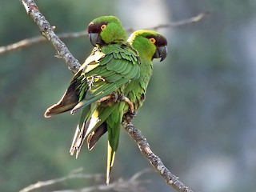
[[[203,12],[193,18],[184,19],[184,20],[181,20],[178,22],[170,22],[169,24],[161,24],[158,26],[146,27],[143,29],[159,30],[162,28],[168,28],[168,27],[173,27],[173,26],[187,26],[187,25],[193,24],[195,22],[200,22],[202,20],[202,18],[206,17],[207,14],[209,14],[209,12]],[[127,28],[126,31],[128,33],[132,33],[134,31],[134,28]],[[65,33],[65,34],[58,34],[58,38],[60,38],[62,40],[66,39],[66,38],[81,38],[81,37],[85,37],[86,34],[87,34],[86,31],[70,32],[70,33]],[[47,39],[43,38],[42,36],[38,36],[38,37],[34,37],[34,38],[26,38],[20,42],[15,42],[14,44],[10,44],[8,46],[1,46],[0,54],[6,54],[7,52],[10,52],[13,50],[22,49],[27,46],[33,46],[34,44],[37,44],[39,42],[46,42],[46,40]]]

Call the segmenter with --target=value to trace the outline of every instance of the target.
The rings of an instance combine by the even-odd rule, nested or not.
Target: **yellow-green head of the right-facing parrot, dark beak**
[[[153,30],[134,31],[130,35],[128,42],[138,51],[140,57],[150,60],[161,58],[160,62],[166,58],[167,40],[162,34],[158,34]]]

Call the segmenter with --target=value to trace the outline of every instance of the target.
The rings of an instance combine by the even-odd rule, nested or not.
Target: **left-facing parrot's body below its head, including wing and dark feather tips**
[[[110,44],[102,49],[95,47],[74,74],[61,100],[46,110],[45,117],[68,110],[74,114],[114,91],[122,91],[122,86],[139,77],[139,65],[137,51],[128,44]]]

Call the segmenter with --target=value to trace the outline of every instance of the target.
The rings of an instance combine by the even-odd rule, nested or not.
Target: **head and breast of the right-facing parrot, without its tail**
[[[137,30],[130,35],[128,42],[138,51],[141,71],[140,77],[130,82],[123,94],[133,103],[134,110],[138,110],[146,97],[146,88],[153,72],[153,59],[161,58],[162,62],[166,58],[167,40],[155,31]]]

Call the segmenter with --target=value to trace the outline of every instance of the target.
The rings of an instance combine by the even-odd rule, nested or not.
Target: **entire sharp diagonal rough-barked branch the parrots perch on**
[[[80,66],[78,60],[74,58],[72,54],[70,54],[70,51],[66,48],[65,44],[58,38],[56,34],[54,34],[53,27],[50,26],[50,23],[47,22],[46,18],[39,12],[38,6],[36,6],[35,2],[33,0],[21,0],[21,1],[26,8],[27,14],[29,14],[30,17],[34,19],[34,22],[37,23],[39,29],[42,32],[42,35],[45,36],[46,39],[49,40],[54,45],[54,48],[55,50],[57,50],[58,55],[66,61],[66,64],[69,67],[69,69],[71,69],[73,73],[77,72],[78,67]],[[197,19],[191,19],[190,22],[194,22],[194,21],[196,22],[197,20],[200,20],[202,18],[203,16],[201,15],[201,17],[198,17]],[[183,23],[187,23],[187,22],[183,22]],[[166,27],[166,26],[160,26],[160,27]],[[131,123],[131,119],[132,117],[130,117],[129,114],[126,114],[126,116],[123,119],[122,126],[125,128],[128,134],[130,134],[130,137],[134,138],[134,141],[137,142],[138,147],[141,150],[142,154],[144,154],[144,156],[149,160],[149,162],[154,167],[154,169],[157,170],[158,173],[162,175],[162,178],[164,178],[166,182],[170,186],[172,186],[175,190],[178,190],[179,192],[193,192],[187,186],[185,186],[182,182],[180,182],[178,180],[178,177],[176,177],[174,174],[171,174],[170,170],[168,170],[166,166],[164,166],[161,159],[158,158],[158,156],[150,150],[150,145],[148,144],[148,142],[146,142],[146,138],[142,135],[140,130],[137,130],[134,127],[134,125]],[[107,186],[104,185],[104,187],[106,188]],[[83,191],[90,191],[90,190],[83,190]],[[22,192],[26,192],[26,190]]]

